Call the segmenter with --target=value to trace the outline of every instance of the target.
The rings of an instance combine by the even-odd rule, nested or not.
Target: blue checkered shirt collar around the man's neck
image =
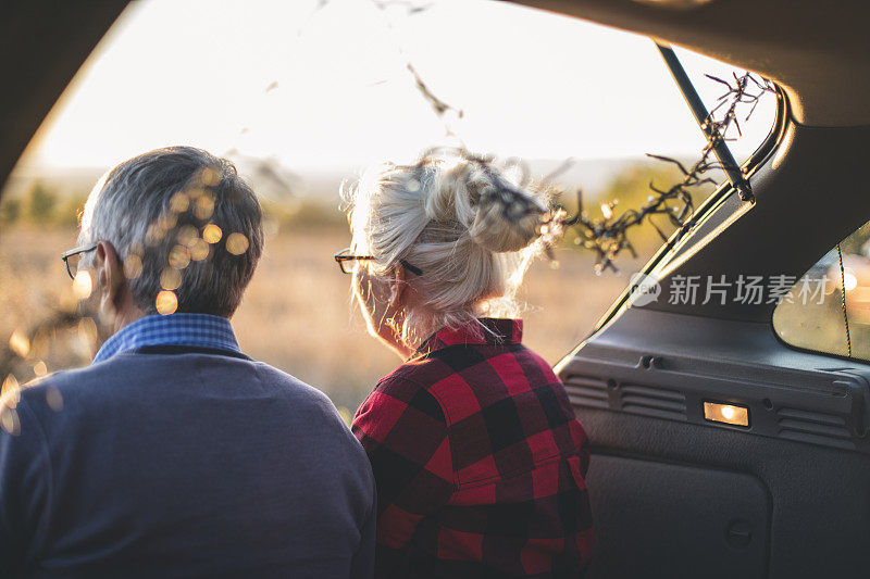
[[[105,340],[94,363],[149,345],[191,345],[241,352],[233,326],[225,317],[209,314],[152,315],[137,319]]]

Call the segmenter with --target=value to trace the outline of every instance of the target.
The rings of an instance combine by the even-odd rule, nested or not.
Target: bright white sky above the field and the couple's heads
[[[409,8],[410,7],[410,8]],[[420,9],[420,10],[417,10]],[[731,67],[679,52],[701,73]],[[407,70],[443,101],[446,136]],[[759,108],[738,156],[773,118]],[[116,164],[169,144],[290,168],[410,161],[461,139],[525,159],[692,154],[703,137],[648,38],[483,0],[138,0],[100,42],[23,162]]]

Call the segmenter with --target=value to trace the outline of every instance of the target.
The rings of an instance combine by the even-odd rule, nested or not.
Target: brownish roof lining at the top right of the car
[[[511,0],[650,36],[782,86],[797,123],[870,124],[870,3],[793,0]],[[683,7],[683,8],[674,8]],[[600,55],[598,56],[600,58]]]

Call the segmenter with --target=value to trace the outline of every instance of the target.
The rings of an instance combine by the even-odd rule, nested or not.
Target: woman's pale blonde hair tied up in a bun
[[[545,249],[544,194],[478,158],[444,153],[370,169],[344,193],[353,252],[374,256],[372,275],[388,279],[402,261],[423,270],[415,281],[426,313],[406,310],[396,328],[406,343],[519,313],[517,289]]]

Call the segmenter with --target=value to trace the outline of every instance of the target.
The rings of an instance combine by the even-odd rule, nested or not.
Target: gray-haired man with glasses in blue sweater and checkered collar
[[[228,322],[261,219],[235,167],[189,147],[95,188],[64,261],[113,335],[91,366],[2,411],[0,575],[371,576],[365,453],[324,394],[243,354]]]

